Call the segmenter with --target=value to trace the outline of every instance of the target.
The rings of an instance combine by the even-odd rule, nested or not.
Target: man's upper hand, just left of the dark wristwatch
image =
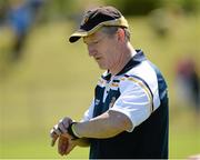
[[[59,136],[67,133],[68,132],[68,127],[69,124],[72,123],[71,118],[63,118],[59,121],[58,124],[56,124],[51,131],[50,131],[50,137],[51,137],[51,146],[53,147],[57,139],[59,138]]]

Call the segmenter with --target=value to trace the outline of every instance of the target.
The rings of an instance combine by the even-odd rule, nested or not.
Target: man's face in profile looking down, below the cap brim
[[[89,56],[93,57],[101,69],[111,70],[118,64],[119,56],[117,54],[118,38],[117,33],[108,36],[102,31],[83,38],[88,47]]]

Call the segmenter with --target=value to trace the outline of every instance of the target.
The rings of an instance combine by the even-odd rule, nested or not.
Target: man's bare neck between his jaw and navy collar
[[[127,46],[121,50],[119,62],[113,69],[110,69],[109,72],[112,76],[119,73],[136,53],[137,52],[133,47],[130,44],[130,42],[128,42]]]

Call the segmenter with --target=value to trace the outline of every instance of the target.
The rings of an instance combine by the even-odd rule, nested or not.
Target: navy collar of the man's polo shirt
[[[119,73],[117,73],[117,76],[128,72],[133,67],[136,67],[139,63],[141,63],[142,61],[147,60],[142,50],[136,50],[136,51],[137,51],[137,53],[130,59],[130,61],[123,67],[123,69]]]

